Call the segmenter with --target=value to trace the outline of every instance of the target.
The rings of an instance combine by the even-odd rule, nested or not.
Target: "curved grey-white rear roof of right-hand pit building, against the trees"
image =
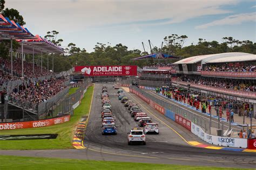
[[[250,53],[244,53],[244,52],[227,52],[227,53],[218,53],[213,55],[201,55],[201,56],[194,56],[194,57],[188,57],[185,59],[181,59],[176,63],[173,64],[193,64],[201,62],[201,64],[205,64],[206,62],[212,60],[212,59],[219,59],[219,58],[226,58],[226,57],[234,57],[234,56],[247,56],[251,55]]]

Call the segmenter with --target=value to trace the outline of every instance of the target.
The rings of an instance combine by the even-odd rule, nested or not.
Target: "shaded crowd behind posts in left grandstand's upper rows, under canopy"
[[[0,63],[1,63],[1,69],[5,70],[6,72],[10,72],[11,71],[11,62],[8,59],[3,59],[0,58]],[[14,60],[14,62],[12,63],[12,68],[14,71],[14,74],[16,74],[18,77],[22,76],[22,60],[17,58]],[[23,62],[23,72],[24,75],[28,78],[31,77],[41,77],[41,76],[46,76],[49,74],[52,74],[52,72],[48,72],[48,70],[46,70],[45,68],[42,69],[41,72],[41,66],[38,66],[35,64],[35,73],[33,73],[33,64],[32,63],[28,63],[28,62]]]

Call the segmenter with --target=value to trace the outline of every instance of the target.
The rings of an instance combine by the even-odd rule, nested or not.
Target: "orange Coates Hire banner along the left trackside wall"
[[[0,123],[0,130],[17,130],[19,128],[36,128],[52,126],[57,124],[65,123],[70,120],[70,115],[65,115],[64,117],[46,119],[46,120],[36,120],[36,121],[23,121],[16,123]]]

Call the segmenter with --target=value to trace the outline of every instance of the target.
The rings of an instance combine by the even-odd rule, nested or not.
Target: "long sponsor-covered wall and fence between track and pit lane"
[[[213,134],[214,132],[211,130],[217,130],[219,126],[217,121],[211,121],[211,119],[196,114],[189,108],[182,108],[178,104],[167,103],[136,86],[130,86],[130,92],[136,94],[158,112],[164,114],[210,144],[247,148],[247,139],[223,137],[221,136],[222,134],[220,136]],[[223,124],[222,128],[223,130],[228,130],[228,126],[223,126]],[[234,133],[237,134],[238,131]]]

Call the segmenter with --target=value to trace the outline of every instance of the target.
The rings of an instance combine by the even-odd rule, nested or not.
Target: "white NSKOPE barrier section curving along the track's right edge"
[[[191,123],[191,125],[192,125],[191,132],[209,144],[218,145],[218,146],[247,148],[247,139],[219,137],[216,135],[211,135],[206,133],[203,130],[203,128],[201,128],[200,126],[194,123]],[[256,140],[255,140],[255,143],[256,143]]]

